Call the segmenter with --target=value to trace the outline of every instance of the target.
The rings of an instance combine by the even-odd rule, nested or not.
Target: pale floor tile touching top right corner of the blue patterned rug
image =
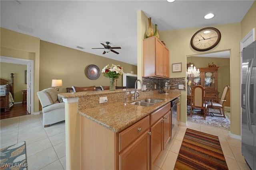
[[[49,138],[45,138],[34,143],[26,144],[26,154],[27,156],[31,156],[50,147],[52,147],[52,143]]]

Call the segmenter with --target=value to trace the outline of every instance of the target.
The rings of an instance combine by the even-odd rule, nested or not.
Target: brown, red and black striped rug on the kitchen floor
[[[217,136],[187,129],[174,170],[228,170]]]

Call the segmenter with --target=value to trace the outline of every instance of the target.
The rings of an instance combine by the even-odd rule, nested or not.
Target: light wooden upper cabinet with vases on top
[[[143,76],[169,78],[169,50],[156,37],[143,39]]]

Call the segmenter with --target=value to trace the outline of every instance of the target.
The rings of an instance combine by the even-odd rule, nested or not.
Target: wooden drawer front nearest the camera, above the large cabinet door
[[[119,133],[119,152],[127,147],[132,141],[139,137],[144,131],[150,127],[149,115],[142,120],[138,121],[131,127],[128,127],[121,133]],[[141,130],[140,130],[141,129]]]

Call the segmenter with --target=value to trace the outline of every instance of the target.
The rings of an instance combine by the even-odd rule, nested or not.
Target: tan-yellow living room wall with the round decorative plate
[[[122,56],[120,56],[122,57]],[[125,73],[134,71],[137,66],[93,55],[61,45],[40,41],[40,87],[39,90],[51,87],[52,79],[62,79],[60,92],[66,93],[66,87],[71,86],[109,86],[110,80],[100,74],[96,80],[90,80],[85,75],[86,66],[94,64],[100,72],[109,64],[120,64]],[[118,86],[122,86],[122,76],[118,78]]]

